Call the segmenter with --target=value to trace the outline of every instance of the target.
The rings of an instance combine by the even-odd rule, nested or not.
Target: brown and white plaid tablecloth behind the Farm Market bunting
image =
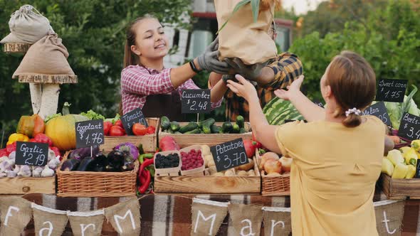
[[[141,235],[189,235],[191,230],[192,198],[203,198],[220,202],[290,208],[290,196],[265,197],[262,195],[145,195],[140,197]],[[2,197],[0,197],[1,200]],[[89,211],[107,208],[127,198],[60,198],[56,195],[28,194],[23,198],[48,208],[70,211]],[[374,202],[387,200],[384,193],[377,191]],[[420,200],[406,200],[404,207],[402,235],[416,235],[419,224]],[[226,216],[218,235],[231,235],[233,226]],[[23,235],[35,235],[33,220]],[[63,235],[72,235],[70,224]],[[102,235],[117,235],[110,223],[103,222]]]

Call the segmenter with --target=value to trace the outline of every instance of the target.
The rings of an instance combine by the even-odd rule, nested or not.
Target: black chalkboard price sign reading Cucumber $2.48
[[[182,90],[182,113],[209,113],[210,90]]]

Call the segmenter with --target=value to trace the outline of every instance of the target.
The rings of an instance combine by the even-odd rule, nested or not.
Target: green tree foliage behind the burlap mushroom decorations
[[[71,112],[95,112],[115,116],[120,101],[120,73],[125,44],[125,28],[135,18],[154,13],[162,23],[188,27],[182,14],[191,11],[185,0],[0,0],[0,36],[9,33],[10,15],[23,4],[31,4],[46,16],[70,56],[68,62],[77,85],[62,85],[59,109],[63,102],[72,104]],[[19,117],[31,114],[28,85],[11,80],[22,55],[0,53],[0,130],[16,128]],[[1,135],[1,134],[0,134]]]

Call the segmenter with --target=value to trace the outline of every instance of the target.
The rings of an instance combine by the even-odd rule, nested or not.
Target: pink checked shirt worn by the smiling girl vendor
[[[175,90],[170,79],[171,69],[164,69],[160,73],[151,68],[140,65],[130,65],[121,72],[122,112],[142,108],[148,95],[164,95]],[[177,88],[181,96],[182,90],[200,89],[189,79]],[[223,100],[223,99],[222,99]],[[211,109],[220,107],[221,101],[211,102]],[[181,111],[179,111],[181,112]]]

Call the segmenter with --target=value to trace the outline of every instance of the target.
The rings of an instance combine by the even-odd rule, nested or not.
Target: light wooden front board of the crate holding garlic
[[[0,178],[0,194],[56,193],[56,176]]]

